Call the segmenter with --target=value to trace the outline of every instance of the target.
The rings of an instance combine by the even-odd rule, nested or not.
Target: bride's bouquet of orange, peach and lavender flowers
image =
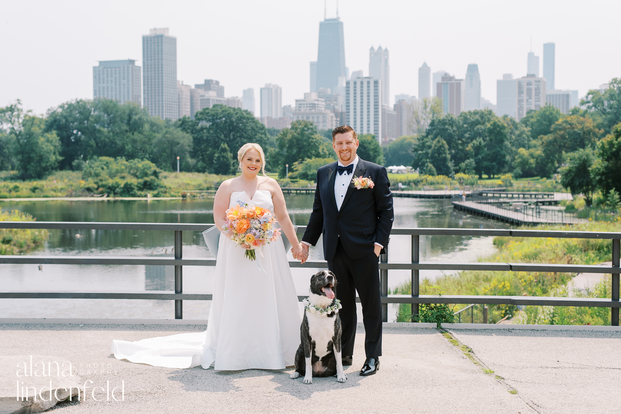
[[[252,250],[246,250],[245,253],[250,260],[256,260],[255,248],[265,246],[280,235],[280,229],[274,228],[276,217],[268,209],[237,200],[226,211],[226,215],[222,230],[227,234],[233,232],[231,240],[238,246],[247,243],[252,247]]]

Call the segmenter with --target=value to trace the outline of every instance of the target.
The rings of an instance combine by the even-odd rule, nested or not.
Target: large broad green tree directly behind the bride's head
[[[194,120],[184,117],[179,127],[193,138],[191,156],[196,161],[197,171],[212,171],[214,156],[222,143],[235,154],[248,142],[258,143],[264,151],[268,148],[265,125],[248,110],[240,108],[214,105],[196,112]]]

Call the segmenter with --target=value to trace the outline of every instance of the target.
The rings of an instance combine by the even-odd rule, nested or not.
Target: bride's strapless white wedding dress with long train
[[[233,192],[229,206],[241,199],[274,212],[271,193]],[[284,235],[283,235],[284,236]],[[302,312],[281,237],[257,251],[256,261],[227,237],[220,237],[213,301],[207,330],[141,341],[112,341],[117,359],[158,367],[214,366],[220,370],[283,369],[294,365],[300,344]]]

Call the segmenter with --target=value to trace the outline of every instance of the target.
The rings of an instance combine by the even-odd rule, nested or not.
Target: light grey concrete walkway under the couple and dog
[[[68,359],[81,371],[81,383],[93,380],[91,387],[124,381],[124,401],[96,402],[89,394],[81,402],[59,403],[51,409],[58,414],[621,413],[619,330],[385,327],[380,370],[360,377],[364,331],[358,328],[345,384],[315,378],[304,385],[301,379],[289,379],[292,369],[168,369],[117,361],[110,354],[112,339],[205,329],[185,324],[1,324],[0,356]],[[1,380],[15,384],[15,378]]]

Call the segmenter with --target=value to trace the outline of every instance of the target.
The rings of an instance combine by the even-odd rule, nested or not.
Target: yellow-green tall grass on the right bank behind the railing
[[[532,229],[532,227],[530,227]],[[569,226],[544,225],[535,230],[579,230],[593,232],[619,232],[621,220],[614,222],[590,222]],[[514,263],[563,263],[563,264],[599,264],[612,259],[610,240],[576,239],[576,238],[494,238],[497,253],[479,258],[484,262]],[[434,286],[446,295],[528,295],[560,296],[568,295],[568,282],[575,276],[561,272],[495,272],[463,271],[457,274],[441,276],[435,281],[420,281],[420,294],[433,294]],[[610,275],[606,276],[593,289],[586,293],[574,290],[576,297],[610,297]],[[392,294],[409,295],[412,293],[411,282],[392,289]],[[467,305],[453,305],[454,312]],[[605,325],[610,323],[609,308],[575,308],[575,307],[525,307],[524,312],[514,305],[488,305],[488,322],[496,323],[504,317],[517,317],[518,323],[550,323],[563,325]],[[483,306],[474,307],[474,322],[483,321]],[[409,322],[410,305],[399,305],[398,322]]]

